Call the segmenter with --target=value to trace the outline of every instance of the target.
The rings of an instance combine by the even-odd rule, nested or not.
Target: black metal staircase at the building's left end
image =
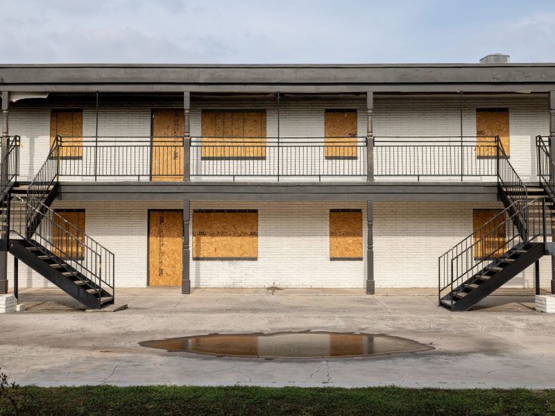
[[[59,166],[57,138],[31,184],[12,181],[6,187],[0,205],[2,244],[87,308],[100,309],[114,302],[114,253],[50,209]]]

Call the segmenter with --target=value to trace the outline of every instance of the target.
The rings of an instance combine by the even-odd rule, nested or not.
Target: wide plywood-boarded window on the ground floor
[[[193,258],[256,260],[258,211],[196,210],[193,213]]]

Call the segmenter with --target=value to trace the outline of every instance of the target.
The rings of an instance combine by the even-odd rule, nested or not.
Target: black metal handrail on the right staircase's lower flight
[[[546,198],[517,200],[438,258],[439,301],[473,284],[486,267],[502,263],[515,250],[552,236]],[[453,304],[453,298],[450,297]]]

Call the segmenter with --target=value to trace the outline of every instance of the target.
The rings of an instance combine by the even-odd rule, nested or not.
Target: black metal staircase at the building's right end
[[[439,304],[452,311],[468,311],[533,263],[539,267],[537,261],[552,252],[553,188],[542,175],[538,187],[527,187],[499,138],[496,146],[497,191],[505,209],[438,259]]]

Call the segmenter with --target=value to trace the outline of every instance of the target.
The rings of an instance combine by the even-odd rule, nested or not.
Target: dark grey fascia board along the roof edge
[[[555,84],[555,64],[152,65],[0,64],[0,87],[99,85],[503,85]],[[543,85],[544,87],[541,87]],[[15,89],[14,89],[15,90]],[[157,89],[160,90],[160,89]]]

